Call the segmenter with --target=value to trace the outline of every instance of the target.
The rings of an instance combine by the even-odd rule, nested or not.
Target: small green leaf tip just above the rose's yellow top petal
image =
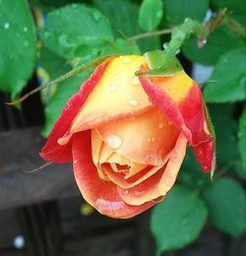
[[[138,54],[141,54],[141,51],[135,42],[119,38],[119,39],[116,39],[111,44],[108,44],[101,51],[101,55],[107,55],[112,53],[138,55]]]

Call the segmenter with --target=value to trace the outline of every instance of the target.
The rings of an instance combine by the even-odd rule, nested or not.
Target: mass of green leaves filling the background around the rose
[[[179,185],[153,211],[151,228],[158,252],[194,241],[208,220],[233,236],[245,231],[246,178],[246,5],[241,0],[0,0],[0,90],[21,93],[36,67],[40,83],[95,57],[159,49],[167,35],[131,36],[173,28],[192,18],[227,8],[220,28],[198,48],[191,36],[182,54],[192,63],[214,67],[204,86],[215,125],[217,164],[212,182],[189,149]],[[161,44],[160,44],[161,42]],[[47,136],[66,100],[91,71],[41,92]],[[222,177],[221,177],[222,176]],[[224,177],[226,176],[226,177]],[[207,218],[207,216],[209,218]]]

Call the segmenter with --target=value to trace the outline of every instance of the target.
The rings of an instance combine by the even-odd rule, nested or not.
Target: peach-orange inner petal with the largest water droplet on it
[[[178,130],[157,108],[135,118],[123,119],[98,127],[105,144],[133,162],[159,165],[174,148]],[[117,139],[117,145],[112,145]],[[114,147],[116,146],[116,147]]]

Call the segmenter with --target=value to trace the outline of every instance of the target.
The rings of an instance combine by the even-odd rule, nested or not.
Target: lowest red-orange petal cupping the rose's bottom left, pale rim
[[[76,182],[85,200],[98,212],[111,218],[126,219],[154,206],[154,202],[140,206],[126,204],[118,195],[115,184],[98,178],[91,152],[91,131],[75,134],[72,153]]]

